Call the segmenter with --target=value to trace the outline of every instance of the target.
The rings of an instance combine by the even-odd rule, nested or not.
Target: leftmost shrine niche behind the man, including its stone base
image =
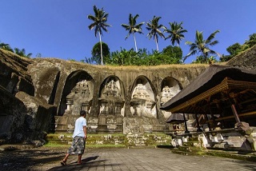
[[[55,117],[55,130],[74,130],[74,122],[80,116],[81,110],[86,110],[90,117],[90,108],[93,99],[94,84],[93,79],[85,71],[75,71],[66,79],[66,84],[62,93],[62,101],[59,115]],[[95,128],[98,120],[90,119],[95,123],[90,123]],[[89,128],[90,129],[90,128]]]

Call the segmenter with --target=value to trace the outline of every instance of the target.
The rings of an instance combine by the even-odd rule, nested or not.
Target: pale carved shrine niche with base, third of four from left
[[[131,116],[123,119],[123,133],[152,133],[168,129],[159,124],[154,92],[146,77],[135,79],[130,100]]]

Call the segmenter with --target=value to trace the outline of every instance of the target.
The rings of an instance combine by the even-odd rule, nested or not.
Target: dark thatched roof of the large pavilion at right
[[[205,92],[208,89],[220,84],[224,78],[230,78],[235,81],[256,82],[256,70],[246,70],[241,67],[234,66],[218,66],[212,65],[205,70],[180,91],[175,97],[171,98],[162,105],[161,109],[170,110],[193,97]]]

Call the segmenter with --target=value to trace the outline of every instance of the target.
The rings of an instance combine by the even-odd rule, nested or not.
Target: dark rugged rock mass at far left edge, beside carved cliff
[[[49,129],[56,111],[34,97],[34,85],[27,66],[33,60],[0,49],[0,143],[38,143]],[[45,121],[45,122],[44,122]]]

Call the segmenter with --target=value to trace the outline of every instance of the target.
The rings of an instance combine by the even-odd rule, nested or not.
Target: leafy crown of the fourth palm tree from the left
[[[177,42],[177,46],[179,46],[179,43],[181,42],[182,38],[184,38],[183,33],[187,32],[187,30],[184,30],[182,27],[182,23],[177,22],[169,22],[170,24],[170,30],[165,29],[164,32],[168,33],[169,35],[165,38],[170,38],[171,44],[174,46],[174,43]]]

